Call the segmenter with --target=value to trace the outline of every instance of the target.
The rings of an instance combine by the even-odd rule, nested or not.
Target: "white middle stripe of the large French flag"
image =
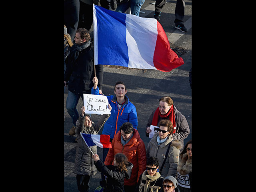
[[[130,68],[156,69],[154,51],[157,39],[156,19],[126,14],[126,43]]]

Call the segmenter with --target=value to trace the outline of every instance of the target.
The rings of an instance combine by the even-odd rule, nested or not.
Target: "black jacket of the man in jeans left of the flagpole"
[[[93,42],[79,52],[78,58],[72,63],[72,54],[66,58],[66,72],[64,81],[68,82],[68,90],[75,94],[91,94],[91,88],[94,86],[92,79],[94,78],[94,48]],[[72,46],[70,53],[76,49]],[[103,82],[103,65],[96,65],[96,76],[99,80],[98,87],[102,89]]]

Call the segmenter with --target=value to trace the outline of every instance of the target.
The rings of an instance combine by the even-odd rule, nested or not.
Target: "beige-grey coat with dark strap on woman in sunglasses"
[[[153,138],[149,141],[146,149],[146,156],[147,158],[158,158],[158,169],[160,170],[164,162],[168,145],[170,142],[172,142],[168,156],[166,157],[166,162],[161,172],[161,176],[164,178],[168,175],[175,177],[177,174],[180,150],[183,148],[182,142],[180,140],[172,140],[171,136],[169,136],[165,142],[158,145],[158,142],[156,140],[157,136],[158,133],[154,134]]]

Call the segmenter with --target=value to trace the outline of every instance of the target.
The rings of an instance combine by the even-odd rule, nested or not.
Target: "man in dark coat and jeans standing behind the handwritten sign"
[[[74,135],[76,129],[76,121],[79,114],[76,105],[83,94],[91,94],[91,88],[94,86],[92,78],[94,78],[94,47],[91,42],[89,31],[85,28],[76,30],[74,38],[75,44],[70,50],[70,54],[66,58],[66,72],[64,74],[64,83],[68,82],[68,98],[66,108],[68,114],[72,118],[73,127],[69,134]],[[96,65],[96,76],[99,80],[98,87],[102,90],[103,81],[103,65]]]

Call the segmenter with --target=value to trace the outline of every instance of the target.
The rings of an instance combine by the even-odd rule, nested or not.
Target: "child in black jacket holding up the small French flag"
[[[132,174],[133,164],[128,162],[127,157],[122,153],[117,153],[114,157],[114,165],[106,166],[100,160],[98,154],[92,156],[98,171],[102,172],[106,178],[106,188],[104,192],[123,192],[124,178],[129,179]]]

